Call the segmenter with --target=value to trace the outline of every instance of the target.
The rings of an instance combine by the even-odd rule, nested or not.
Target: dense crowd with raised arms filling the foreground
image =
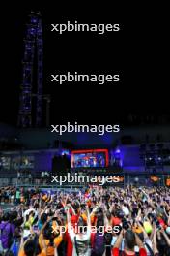
[[[0,255],[170,256],[170,190],[3,187]]]

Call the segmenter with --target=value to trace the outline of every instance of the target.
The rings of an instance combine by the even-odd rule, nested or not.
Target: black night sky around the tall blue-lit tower
[[[115,1],[116,2],[116,1]],[[50,3],[50,4],[49,4]],[[56,3],[55,5],[52,3]],[[156,6],[155,6],[156,7]],[[31,11],[41,11],[43,24],[43,92],[51,94],[51,123],[113,123],[129,113],[169,112],[166,33],[155,7],[112,6],[88,2],[46,6],[7,5],[1,11],[0,122],[16,124],[22,82],[25,24]],[[157,8],[157,7],[156,7]],[[120,23],[118,33],[50,32],[51,23]],[[120,74],[115,84],[52,84],[50,74]]]

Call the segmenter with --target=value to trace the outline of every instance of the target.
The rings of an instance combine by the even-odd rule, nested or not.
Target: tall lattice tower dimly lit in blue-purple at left
[[[33,84],[37,86],[35,124],[32,116]],[[39,13],[31,13],[26,28],[18,125],[21,127],[42,125],[42,19]]]

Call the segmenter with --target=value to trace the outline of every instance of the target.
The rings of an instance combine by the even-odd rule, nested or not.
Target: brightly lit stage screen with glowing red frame
[[[80,167],[107,167],[108,150],[74,150],[71,152],[71,168]]]

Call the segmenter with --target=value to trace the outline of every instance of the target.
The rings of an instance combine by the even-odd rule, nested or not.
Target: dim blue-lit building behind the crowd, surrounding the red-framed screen
[[[170,175],[170,127],[143,126],[125,128],[119,134],[63,134],[54,137],[49,129],[17,129],[0,125],[0,184],[39,184],[43,174],[43,185],[50,184],[51,174],[96,174],[123,175],[124,181],[144,182],[146,176],[160,176],[157,184],[165,184]],[[161,131],[161,133],[160,133]],[[108,150],[108,163],[86,164],[80,159],[79,166],[71,166],[71,152],[74,150]],[[65,157],[67,163],[58,163],[56,158]],[[81,156],[82,157],[82,156]],[[85,155],[83,157],[86,157]],[[92,162],[94,153],[89,156]],[[101,157],[101,156],[96,156]],[[87,158],[87,157],[86,157]],[[84,158],[85,159],[85,158]],[[61,160],[61,159],[58,159]],[[57,161],[58,161],[57,160]],[[104,161],[104,160],[103,160]],[[64,173],[63,173],[64,172]],[[44,178],[43,178],[44,179]],[[42,183],[41,183],[42,184]],[[67,184],[68,185],[68,184]]]

